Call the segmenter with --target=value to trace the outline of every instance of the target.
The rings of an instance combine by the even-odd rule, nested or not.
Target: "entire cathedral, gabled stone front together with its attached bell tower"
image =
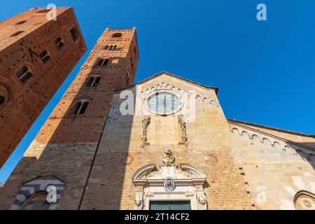
[[[136,29],[104,31],[0,209],[315,209],[314,135],[227,119],[165,71],[133,84],[138,59]]]

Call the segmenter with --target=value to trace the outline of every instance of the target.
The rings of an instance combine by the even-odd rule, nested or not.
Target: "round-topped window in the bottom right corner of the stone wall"
[[[294,196],[295,209],[315,210],[315,195],[306,190],[300,190]]]

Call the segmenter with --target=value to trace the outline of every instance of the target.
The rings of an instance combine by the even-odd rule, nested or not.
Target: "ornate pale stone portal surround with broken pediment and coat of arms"
[[[186,163],[174,164],[174,155],[167,148],[161,156],[163,165],[155,164],[141,167],[132,176],[137,188],[134,209],[149,209],[151,200],[189,200],[192,209],[207,209],[204,193],[206,175]],[[168,190],[165,180],[174,181],[174,188]]]

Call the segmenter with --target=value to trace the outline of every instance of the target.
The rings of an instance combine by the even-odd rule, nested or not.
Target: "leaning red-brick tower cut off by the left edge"
[[[0,22],[0,168],[86,50],[69,7]]]

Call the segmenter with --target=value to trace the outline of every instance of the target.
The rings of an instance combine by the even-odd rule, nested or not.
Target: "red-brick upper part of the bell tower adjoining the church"
[[[107,28],[36,139],[99,141],[113,92],[133,84],[138,59],[136,29]]]

